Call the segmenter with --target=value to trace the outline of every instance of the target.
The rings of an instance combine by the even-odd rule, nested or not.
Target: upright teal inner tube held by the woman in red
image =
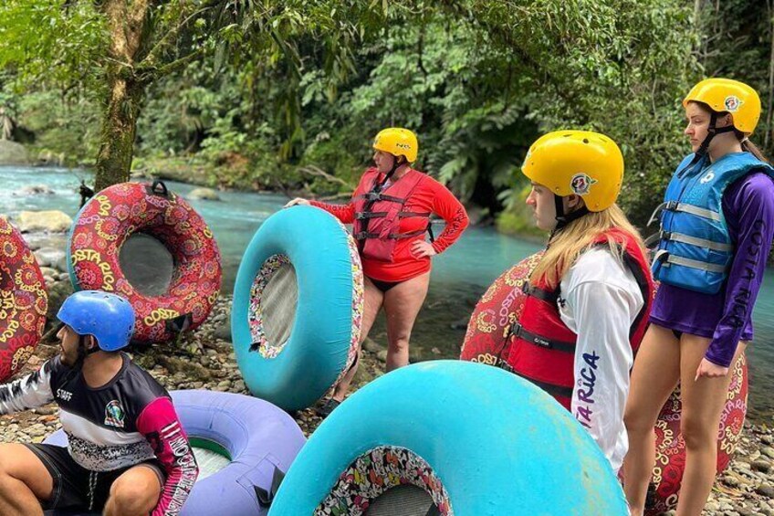
[[[314,404],[357,354],[360,257],[338,219],[311,206],[270,216],[236,274],[231,329],[250,392],[285,410]]]

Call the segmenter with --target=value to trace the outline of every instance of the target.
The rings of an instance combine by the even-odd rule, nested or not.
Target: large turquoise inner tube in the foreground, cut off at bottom
[[[552,397],[495,367],[433,361],[344,401],[298,453],[269,516],[361,514],[404,483],[441,514],[628,514],[607,459]]]

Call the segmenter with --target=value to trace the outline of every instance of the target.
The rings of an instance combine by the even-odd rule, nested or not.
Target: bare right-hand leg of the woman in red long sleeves
[[[422,309],[430,272],[403,281],[384,294],[384,315],[387,318],[387,371],[409,363],[409,339],[416,316]]]

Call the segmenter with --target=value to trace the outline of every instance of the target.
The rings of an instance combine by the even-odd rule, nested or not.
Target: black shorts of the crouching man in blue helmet
[[[51,478],[54,479],[51,500],[41,500],[44,511],[79,508],[101,512],[105,502],[108,501],[110,486],[121,474],[133,468],[129,466],[112,471],[90,471],[70,457],[68,448],[47,444],[25,446],[43,461]],[[153,469],[163,487],[165,475],[161,463],[152,459],[140,464]]]

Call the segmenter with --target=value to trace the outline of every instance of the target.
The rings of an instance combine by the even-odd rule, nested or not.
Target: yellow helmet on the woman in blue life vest
[[[750,134],[760,118],[758,92],[744,82],[733,79],[704,79],[694,86],[683,100],[704,102],[712,111],[728,111],[738,131]]]

